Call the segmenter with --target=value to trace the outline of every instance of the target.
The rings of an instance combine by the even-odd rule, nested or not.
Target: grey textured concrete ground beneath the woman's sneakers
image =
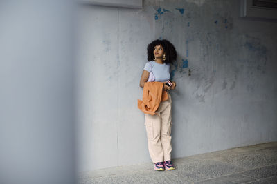
[[[173,159],[176,170],[152,163],[82,173],[79,183],[277,183],[277,142]]]

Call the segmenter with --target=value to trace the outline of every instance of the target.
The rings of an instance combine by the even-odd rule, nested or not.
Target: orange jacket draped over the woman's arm
[[[161,101],[168,100],[168,93],[163,90],[162,82],[147,82],[143,88],[143,100],[138,99],[138,107],[145,114],[154,115]]]

